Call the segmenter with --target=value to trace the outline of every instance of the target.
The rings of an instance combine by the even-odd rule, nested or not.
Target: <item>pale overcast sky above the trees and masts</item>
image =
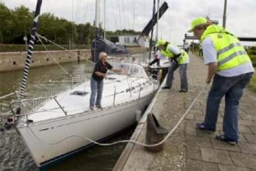
[[[57,17],[76,23],[93,23],[95,1],[43,0],[41,12],[51,12]],[[236,36],[256,37],[256,1],[227,1],[226,28]],[[25,5],[31,10],[35,9],[37,3],[36,0],[0,0],[0,2],[11,9]],[[104,27],[104,0],[99,2],[100,22]],[[163,2],[164,0],[160,0],[159,4]],[[195,17],[209,16],[222,24],[224,0],[166,0],[166,2],[169,8],[159,20],[158,37],[176,45],[182,45],[184,34],[189,30],[190,23]],[[105,28],[141,31],[152,17],[152,8],[153,0],[105,0]],[[256,45],[256,42],[247,44]]]

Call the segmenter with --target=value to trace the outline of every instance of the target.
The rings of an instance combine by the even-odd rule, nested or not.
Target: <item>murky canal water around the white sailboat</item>
[[[136,60],[143,61],[146,53],[134,54]],[[109,60],[111,64],[111,60]],[[93,65],[88,62],[61,64],[73,75],[75,84],[90,79]],[[23,71],[0,73],[0,97],[19,90]],[[70,76],[58,65],[31,68],[28,74],[26,98],[52,96],[67,90]],[[0,99],[0,112],[8,110],[11,98]],[[2,124],[1,118],[0,123]],[[130,128],[105,141],[128,140],[134,128]],[[126,144],[109,147],[94,145],[66,160],[54,164],[46,170],[112,170]],[[38,170],[29,151],[15,130],[0,132],[0,170]]]

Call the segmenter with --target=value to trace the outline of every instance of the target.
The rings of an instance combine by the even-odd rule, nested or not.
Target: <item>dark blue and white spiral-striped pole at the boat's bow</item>
[[[31,58],[32,58],[32,52],[33,52],[33,48],[34,48],[35,37],[36,37],[36,34],[37,34],[38,18],[39,18],[39,15],[40,15],[41,4],[42,4],[42,0],[38,0],[37,1],[37,8],[35,9],[35,16],[34,16],[34,20],[33,20],[33,26],[32,26],[32,29],[31,29],[31,37],[30,37],[30,40],[29,40],[29,45],[28,45],[28,50],[27,50],[27,57],[26,57],[24,71],[23,71],[23,77],[22,77],[22,81],[21,81],[19,100],[21,100],[24,97],[24,94],[25,94],[25,91],[26,91],[28,71],[29,71],[30,62],[31,62]]]

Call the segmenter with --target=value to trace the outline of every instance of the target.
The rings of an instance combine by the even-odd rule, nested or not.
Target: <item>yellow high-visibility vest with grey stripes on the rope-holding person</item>
[[[217,71],[234,68],[251,62],[239,40],[221,26],[209,26],[201,36],[201,41],[210,37],[217,51]]]

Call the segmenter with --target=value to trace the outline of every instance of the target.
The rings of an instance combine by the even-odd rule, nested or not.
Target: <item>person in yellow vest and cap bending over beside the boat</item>
[[[172,45],[169,42],[166,42],[163,39],[157,41],[158,49],[160,50],[160,55],[167,56],[171,59],[170,67],[168,68],[168,75],[166,78],[166,85],[162,87],[163,89],[170,89],[172,86],[172,80],[174,78],[174,71],[177,68],[180,68],[180,78],[181,78],[181,90],[179,92],[188,91],[188,80],[187,80],[187,65],[189,62],[189,57],[183,49],[178,48],[175,45]],[[154,64],[159,60],[157,58],[150,62],[149,65]]]

